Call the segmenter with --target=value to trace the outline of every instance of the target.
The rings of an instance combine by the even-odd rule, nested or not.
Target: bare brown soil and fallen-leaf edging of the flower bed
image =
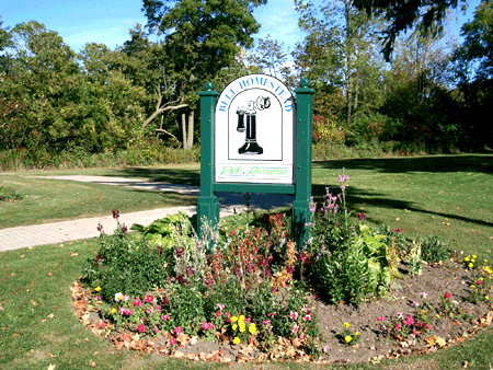
[[[366,362],[378,361],[383,358],[406,356],[416,352],[435,351],[451,343],[462,342],[473,335],[478,329],[491,324],[493,320],[493,305],[489,303],[471,304],[466,302],[470,293],[471,271],[455,262],[440,265],[424,265],[423,274],[412,276],[409,267],[400,266],[401,279],[397,279],[392,291],[380,299],[370,299],[357,308],[348,304],[328,305],[317,301],[313,312],[319,321],[320,334],[326,342],[326,354],[323,361],[328,362]],[[167,346],[168,337],[162,335],[153,338],[144,338],[130,333],[116,333],[102,326],[98,312],[88,312],[88,292],[77,281],[71,288],[76,314],[84,325],[91,327],[96,334],[115,343],[118,349],[135,349],[149,354],[159,354],[173,357],[183,357],[190,360],[204,361],[238,361],[250,362],[259,360],[276,360],[289,357],[299,361],[309,361],[310,357],[297,349],[296,343],[280,339],[277,350],[262,354],[253,344],[250,346],[231,346],[217,342],[196,340],[183,336],[180,348]],[[394,319],[399,313],[404,316],[413,314],[413,303],[423,303],[421,292],[428,293],[426,301],[433,307],[439,307],[439,297],[450,293],[450,300],[456,301],[460,311],[469,314],[467,320],[452,320],[447,315],[435,317],[427,333],[416,337],[395,340],[382,335],[382,323],[379,317]],[[348,346],[341,340],[344,329],[343,323],[349,323],[353,331],[359,332],[359,343]],[[387,321],[388,323],[388,321]],[[444,338],[438,344],[436,338]]]

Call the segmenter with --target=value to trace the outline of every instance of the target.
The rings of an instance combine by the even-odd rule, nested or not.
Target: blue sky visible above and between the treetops
[[[314,3],[321,1],[314,0]],[[457,37],[461,24],[472,18],[479,1],[470,0],[467,15],[458,13],[459,22],[450,22]],[[114,48],[129,38],[129,28],[137,23],[146,24],[141,4],[141,0],[1,0],[0,20],[3,27],[32,20],[43,23],[46,28],[58,32],[76,51],[90,42]],[[255,10],[255,19],[262,25],[256,38],[265,38],[270,34],[273,39],[284,42],[290,50],[303,38],[293,0],[268,0],[267,5]]]

